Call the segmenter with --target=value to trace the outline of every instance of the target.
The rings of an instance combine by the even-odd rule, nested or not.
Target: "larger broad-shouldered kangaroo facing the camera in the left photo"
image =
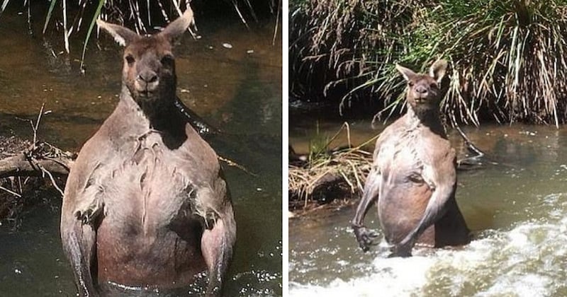
[[[81,296],[174,289],[207,272],[220,296],[236,240],[215,151],[176,107],[172,43],[187,8],[155,35],[97,21],[125,45],[120,101],[79,152],[64,190],[61,239]]]

